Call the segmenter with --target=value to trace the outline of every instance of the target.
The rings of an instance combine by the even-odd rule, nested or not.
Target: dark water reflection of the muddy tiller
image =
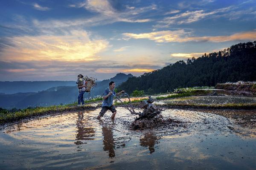
[[[155,151],[154,145],[159,143],[160,137],[156,136],[154,133],[146,133],[142,138],[140,138],[140,146],[148,147],[150,154]]]

